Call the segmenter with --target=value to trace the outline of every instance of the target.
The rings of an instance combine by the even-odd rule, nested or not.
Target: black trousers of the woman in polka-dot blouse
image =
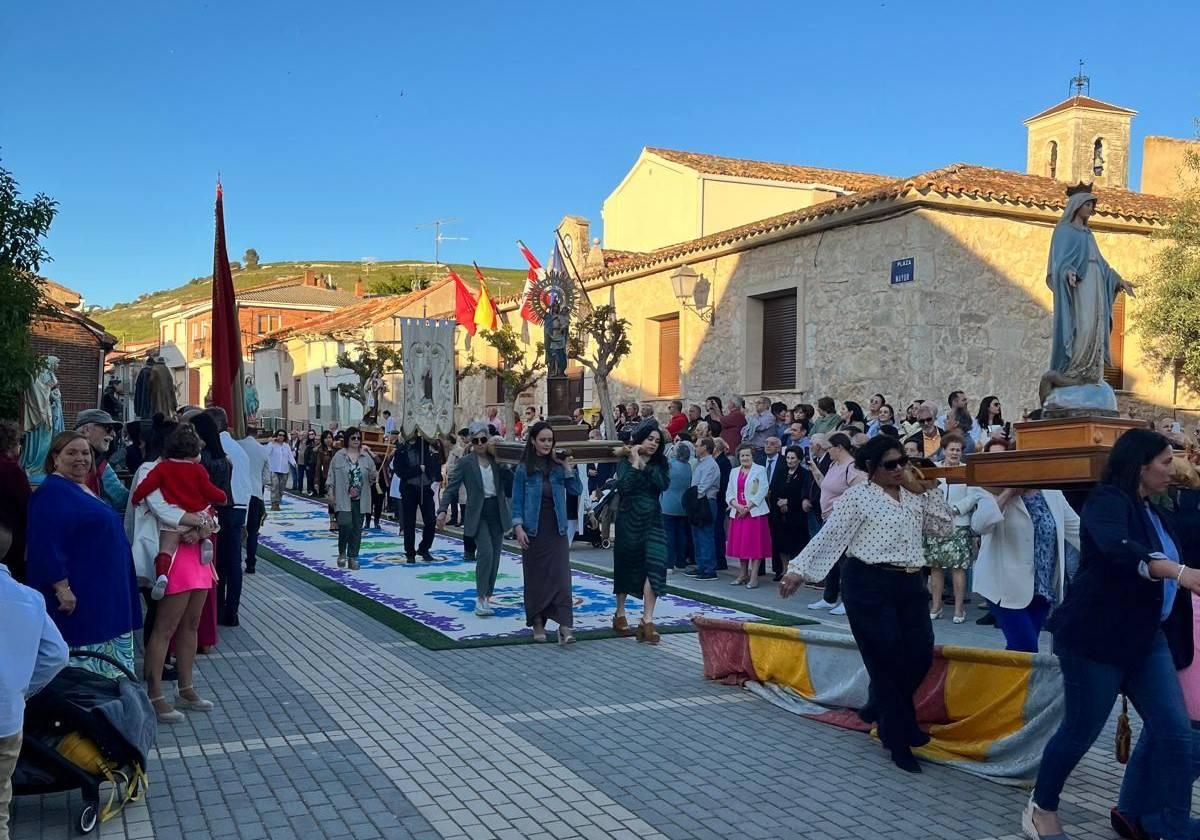
[[[880,740],[900,752],[918,743],[912,696],[934,664],[929,593],[920,575],[868,565],[854,557],[841,564],[841,600],[871,678]]]

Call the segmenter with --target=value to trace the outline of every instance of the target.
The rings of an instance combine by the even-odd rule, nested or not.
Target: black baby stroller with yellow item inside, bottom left
[[[120,662],[88,650],[72,650],[71,656],[101,659],[120,668],[127,679],[67,666],[30,697],[12,792],[79,791],[83,810],[76,827],[88,834],[145,792],[146,754],[157,722],[146,692]],[[103,784],[112,788],[101,809]]]

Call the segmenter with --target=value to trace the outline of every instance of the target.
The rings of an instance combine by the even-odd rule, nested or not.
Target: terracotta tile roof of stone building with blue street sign
[[[1139,222],[1162,220],[1172,202],[1158,196],[1148,196],[1128,190],[1096,190],[1097,216],[1126,218]],[[650,268],[661,263],[684,262],[683,258],[708,248],[724,247],[742,240],[754,239],[778,230],[802,226],[826,216],[834,216],[854,208],[910,194],[935,194],[941,197],[973,198],[984,202],[1016,204],[1045,210],[1062,210],[1067,205],[1067,185],[1038,175],[1024,175],[1007,169],[992,169],[970,163],[955,163],[943,169],[890,181],[887,185],[842,196],[802,210],[763,218],[730,230],[709,234],[677,245],[668,245],[638,257],[605,266],[599,271],[584,272],[586,280],[595,280],[625,271]]]

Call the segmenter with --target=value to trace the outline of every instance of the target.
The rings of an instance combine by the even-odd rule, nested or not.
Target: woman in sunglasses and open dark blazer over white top
[[[458,498],[458,488],[467,491],[467,510],[462,533],[475,540],[475,614],[494,616],[492,590],[500,568],[500,547],[504,533],[512,527],[509,502],[504,494],[503,474],[509,468],[497,463],[487,426],[474,422],[468,430],[470,451],[458,458],[442,491],[438,506],[438,528],[446,523],[446,510]]]

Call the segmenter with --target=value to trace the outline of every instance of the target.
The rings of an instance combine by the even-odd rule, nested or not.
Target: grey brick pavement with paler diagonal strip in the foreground
[[[862,734],[706,683],[694,634],[432,652],[268,563],[246,582],[242,625],[200,658],[216,712],[160,727],[148,802],[100,836],[1019,836],[1021,791],[900,773]],[[1076,839],[1112,836],[1098,744],[1064,797]],[[71,836],[76,808],[18,799],[13,836]]]

